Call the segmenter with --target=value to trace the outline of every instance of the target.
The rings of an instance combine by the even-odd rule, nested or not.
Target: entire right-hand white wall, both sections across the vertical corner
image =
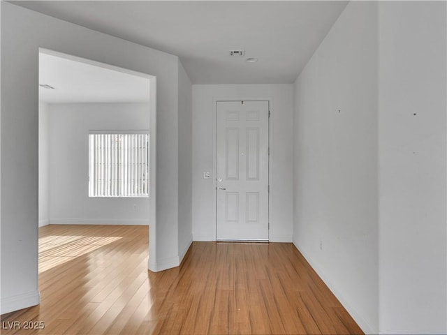
[[[295,244],[366,332],[447,332],[446,14],[351,2],[295,82]]]

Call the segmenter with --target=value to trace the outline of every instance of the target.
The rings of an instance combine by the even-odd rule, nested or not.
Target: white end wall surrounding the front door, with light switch
[[[216,239],[214,99],[270,99],[270,241],[292,241],[293,84],[193,85],[193,239]],[[203,179],[203,172],[211,172]]]

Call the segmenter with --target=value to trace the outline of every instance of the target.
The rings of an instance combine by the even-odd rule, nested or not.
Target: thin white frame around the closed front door
[[[231,101],[266,101],[268,102],[268,241],[270,241],[270,183],[272,181],[272,118],[273,99],[271,97],[253,97],[253,96],[231,96],[223,98],[213,98],[212,114],[212,187],[213,187],[213,218],[214,218],[214,241],[217,241],[217,103]]]

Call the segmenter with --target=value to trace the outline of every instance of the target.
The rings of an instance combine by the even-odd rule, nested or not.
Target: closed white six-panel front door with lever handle
[[[268,101],[217,102],[217,239],[268,240]]]

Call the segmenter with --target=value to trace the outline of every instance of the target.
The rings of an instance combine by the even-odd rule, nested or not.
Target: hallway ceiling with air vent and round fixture
[[[295,81],[348,1],[10,2],[175,54],[193,84],[272,84]]]

